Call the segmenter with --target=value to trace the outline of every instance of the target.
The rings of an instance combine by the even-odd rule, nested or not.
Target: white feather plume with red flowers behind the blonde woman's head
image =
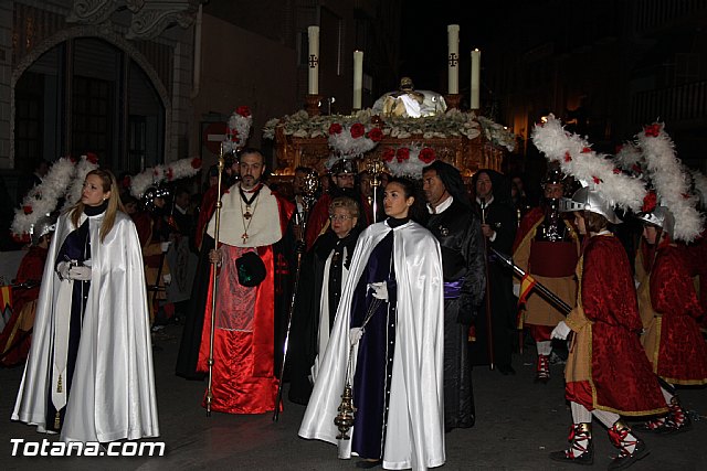
[[[98,158],[95,153],[87,153],[81,159],[63,157],[55,161],[46,172],[42,183],[28,192],[22,200],[22,207],[15,210],[14,218],[10,231],[18,237],[27,237],[36,222],[56,210],[56,205],[62,197],[71,201],[75,184],[75,179],[80,180],[80,192],[86,173],[97,167]],[[80,175],[81,172],[81,175]],[[71,182],[72,190],[67,191]]]

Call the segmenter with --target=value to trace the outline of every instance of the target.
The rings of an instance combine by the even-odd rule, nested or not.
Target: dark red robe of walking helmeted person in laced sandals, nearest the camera
[[[665,413],[665,398],[639,340],[643,324],[625,249],[612,235],[590,237],[580,267],[578,306],[590,322],[576,331],[568,366],[581,357],[580,366],[590,370],[588,379],[566,377],[567,399],[620,415]],[[573,313],[567,323],[576,330]],[[588,349],[580,352],[587,335]]]

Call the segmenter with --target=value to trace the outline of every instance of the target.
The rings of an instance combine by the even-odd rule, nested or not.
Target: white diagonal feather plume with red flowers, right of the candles
[[[548,116],[548,121],[532,129],[532,142],[550,162],[559,162],[562,173],[591,186],[612,204],[634,212],[641,211],[646,189],[641,179],[624,174],[606,156],[598,154],[576,133],[564,130],[562,124]]]

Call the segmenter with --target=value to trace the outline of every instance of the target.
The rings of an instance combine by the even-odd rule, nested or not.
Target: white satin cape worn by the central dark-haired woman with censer
[[[337,440],[339,431],[334,425],[349,361],[351,299],[372,249],[390,231],[393,231],[398,323],[382,465],[423,470],[445,461],[444,291],[440,245],[428,229],[414,222],[394,229],[386,222],[373,224],[359,237],[299,436],[338,445],[339,458],[351,456],[350,440]],[[352,372],[356,358],[355,347]]]

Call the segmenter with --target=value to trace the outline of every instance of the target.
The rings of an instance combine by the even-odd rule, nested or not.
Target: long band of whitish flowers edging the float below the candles
[[[285,136],[295,138],[329,137],[329,128],[333,124],[338,122],[346,127],[360,122],[368,127],[376,125],[374,121],[377,121],[377,118],[374,118],[370,108],[359,110],[351,116],[309,116],[307,111],[300,110],[282,118],[270,119],[263,127],[263,137],[265,139],[275,139],[277,129],[282,129]],[[485,136],[495,146],[504,146],[513,150],[516,142],[515,135],[504,129],[503,126],[495,124],[490,119],[477,117],[474,113],[463,113],[454,108],[441,115],[422,118],[386,117],[386,121],[380,127],[383,136],[398,139],[408,139],[410,137],[444,139],[457,136],[476,139],[482,133],[482,127],[484,127]]]

